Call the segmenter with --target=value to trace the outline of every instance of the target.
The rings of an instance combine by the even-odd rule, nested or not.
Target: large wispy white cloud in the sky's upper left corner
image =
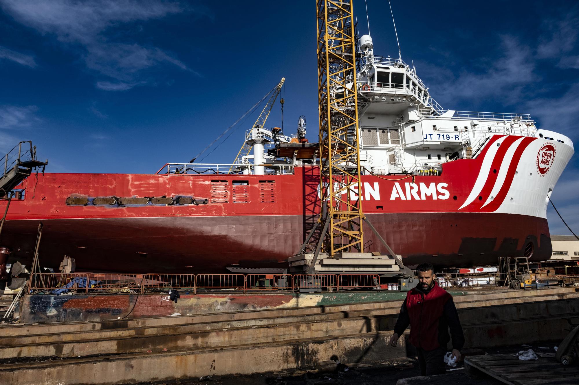
[[[0,0],[17,21],[53,34],[69,47],[82,47],[87,68],[116,82],[98,80],[101,90],[123,91],[148,83],[146,69],[170,64],[187,66],[157,47],[112,41],[109,30],[124,23],[161,18],[183,12],[175,1],[162,0]],[[120,39],[116,37],[116,39]]]

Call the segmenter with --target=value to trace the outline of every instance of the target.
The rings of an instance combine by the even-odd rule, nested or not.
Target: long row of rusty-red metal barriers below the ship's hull
[[[29,293],[144,294],[174,288],[190,290],[320,291],[379,289],[378,274],[109,274],[109,273],[33,273]]]

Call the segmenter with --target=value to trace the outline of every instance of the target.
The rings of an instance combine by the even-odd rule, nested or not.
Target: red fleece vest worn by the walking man
[[[438,321],[444,312],[444,304],[452,298],[452,295],[436,282],[428,294],[424,295],[424,299],[422,295],[416,288],[406,295],[406,308],[410,318],[410,342],[420,349],[433,350],[440,346]]]

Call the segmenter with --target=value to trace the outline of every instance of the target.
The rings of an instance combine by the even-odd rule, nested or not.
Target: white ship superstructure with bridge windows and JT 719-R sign
[[[471,159],[493,135],[565,135],[537,129],[530,114],[446,110],[431,96],[416,68],[400,58],[373,54],[372,38],[360,38],[360,144],[365,168],[378,174],[441,172],[441,164]]]

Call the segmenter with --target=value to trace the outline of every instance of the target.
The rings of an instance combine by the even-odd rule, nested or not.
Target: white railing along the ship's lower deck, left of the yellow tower
[[[264,164],[265,175],[290,175],[294,173],[291,164]],[[254,164],[225,163],[167,163],[155,174],[189,175],[248,175],[253,174]]]

